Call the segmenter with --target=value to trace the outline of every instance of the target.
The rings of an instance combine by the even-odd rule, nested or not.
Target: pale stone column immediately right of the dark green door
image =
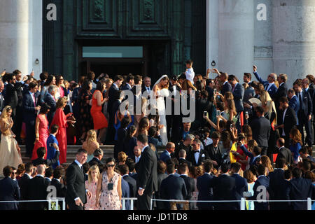
[[[245,71],[253,70],[253,1],[220,0],[218,10],[218,69],[241,81]]]

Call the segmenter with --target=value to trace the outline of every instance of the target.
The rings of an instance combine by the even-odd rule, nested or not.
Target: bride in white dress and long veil
[[[155,83],[153,90],[151,91],[150,99],[151,113],[154,114],[155,109],[158,109],[160,125],[162,126],[160,129],[160,135],[163,146],[166,146],[168,140],[164,97],[169,97],[169,78],[167,75],[162,76],[158,82]]]

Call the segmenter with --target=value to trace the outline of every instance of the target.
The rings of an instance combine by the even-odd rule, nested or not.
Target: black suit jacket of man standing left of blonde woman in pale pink
[[[85,176],[76,162],[72,162],[66,169],[66,203],[75,204],[76,197],[86,203]]]

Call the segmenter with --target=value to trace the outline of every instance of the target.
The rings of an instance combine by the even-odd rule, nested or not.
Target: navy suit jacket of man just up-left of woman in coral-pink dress
[[[38,94],[34,93],[35,97],[35,104],[38,106]],[[35,120],[37,117],[37,113],[35,111],[35,105],[33,98],[31,97],[31,94],[29,92],[25,93],[22,101],[22,107],[23,107],[23,122],[30,125],[35,125]]]

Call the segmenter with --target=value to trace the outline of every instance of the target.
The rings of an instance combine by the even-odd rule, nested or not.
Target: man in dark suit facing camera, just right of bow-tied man
[[[218,142],[220,141],[221,134],[219,132],[212,132],[211,139],[212,144],[206,146],[205,151],[209,155],[212,163],[214,164],[214,168],[218,169],[221,166],[222,162],[222,151],[220,146],[218,146]]]

